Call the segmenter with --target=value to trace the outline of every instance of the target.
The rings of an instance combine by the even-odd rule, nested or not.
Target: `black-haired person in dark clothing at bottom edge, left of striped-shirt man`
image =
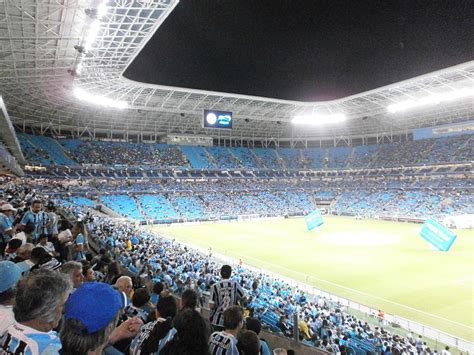
[[[160,355],[209,355],[209,327],[194,309],[184,309],[173,320],[176,335]]]

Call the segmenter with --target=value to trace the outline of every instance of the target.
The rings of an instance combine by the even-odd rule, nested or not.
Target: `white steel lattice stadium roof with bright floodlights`
[[[473,90],[474,61],[342,99],[312,103],[124,78],[123,72],[176,4],[175,0],[4,0],[0,7],[0,93],[13,123],[56,135],[127,132],[148,139],[177,133],[304,140],[388,136],[473,117],[472,97],[403,113],[389,113],[387,107],[436,93]],[[203,109],[232,111],[234,129],[203,129]],[[311,127],[291,123],[295,116],[339,113],[346,115],[345,122]]]

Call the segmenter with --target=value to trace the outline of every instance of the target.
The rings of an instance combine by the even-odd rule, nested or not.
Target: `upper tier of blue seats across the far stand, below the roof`
[[[390,168],[469,162],[474,154],[471,135],[380,145],[305,149],[55,140],[30,134],[19,134],[18,139],[30,163],[65,166],[75,166],[79,163],[104,166],[252,170]]]

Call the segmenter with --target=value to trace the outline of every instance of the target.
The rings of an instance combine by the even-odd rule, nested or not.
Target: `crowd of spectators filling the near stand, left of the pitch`
[[[392,334],[242,265],[221,265],[212,252],[55,205],[39,186],[6,180],[0,187],[4,353],[268,355],[262,328],[297,332],[304,343],[340,354],[436,353],[421,337]]]

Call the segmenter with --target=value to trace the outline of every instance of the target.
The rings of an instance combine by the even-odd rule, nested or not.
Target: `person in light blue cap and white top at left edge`
[[[11,261],[0,261],[0,337],[15,323],[16,284],[21,278],[21,269]]]

